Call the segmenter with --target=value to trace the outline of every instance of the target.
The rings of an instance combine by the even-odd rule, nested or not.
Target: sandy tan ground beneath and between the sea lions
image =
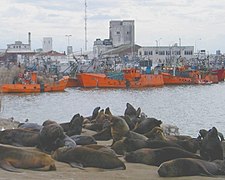
[[[18,122],[14,122],[8,119],[0,118],[0,129],[4,127],[13,128],[17,127]],[[84,130],[83,134],[92,134],[93,132]],[[112,141],[101,141],[98,144],[110,145]],[[121,160],[124,161],[123,157]],[[125,161],[124,161],[125,162]],[[22,170],[22,173],[8,172],[0,169],[0,180],[24,180],[24,179],[42,179],[42,180],[115,180],[115,179],[150,179],[150,180],[160,180],[160,179],[177,179],[177,180],[208,180],[215,179],[213,177],[203,177],[203,176],[191,176],[191,177],[179,177],[179,178],[161,178],[159,177],[156,166],[148,166],[143,164],[127,163],[125,162],[126,170],[102,170],[98,168],[85,168],[85,170],[72,168],[66,163],[56,162],[56,171],[32,171],[32,170]],[[224,180],[225,176],[218,176],[217,180]]]

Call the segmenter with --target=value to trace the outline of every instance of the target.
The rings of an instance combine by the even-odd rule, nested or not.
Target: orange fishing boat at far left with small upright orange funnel
[[[63,77],[53,83],[37,83],[37,73],[31,73],[31,81],[25,83],[3,84],[1,92],[3,93],[40,93],[40,92],[57,92],[64,91],[69,77]]]

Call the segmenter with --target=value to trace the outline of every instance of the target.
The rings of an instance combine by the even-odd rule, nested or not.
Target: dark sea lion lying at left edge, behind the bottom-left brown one
[[[2,144],[33,147],[39,144],[39,142],[39,132],[22,128],[0,131],[0,143]]]

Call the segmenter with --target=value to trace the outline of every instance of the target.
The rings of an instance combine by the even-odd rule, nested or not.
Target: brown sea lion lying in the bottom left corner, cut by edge
[[[20,172],[17,168],[56,170],[54,160],[45,153],[3,144],[0,144],[0,167],[12,172]]]

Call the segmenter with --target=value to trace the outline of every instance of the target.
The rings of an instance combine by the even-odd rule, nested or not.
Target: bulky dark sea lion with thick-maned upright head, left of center
[[[46,125],[40,131],[40,143],[38,144],[38,148],[44,152],[50,153],[65,145],[65,137],[63,128],[59,124],[53,123]]]

